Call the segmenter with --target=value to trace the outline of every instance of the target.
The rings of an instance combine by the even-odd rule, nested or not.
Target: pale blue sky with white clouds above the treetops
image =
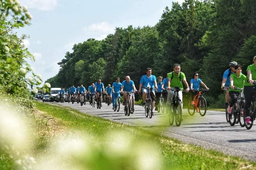
[[[174,0],[180,4],[184,0]],[[31,25],[16,30],[29,36],[24,41],[35,61],[28,60],[43,82],[55,76],[67,51],[88,38],[102,40],[116,27],[154,26],[173,0],[20,0],[33,19]]]

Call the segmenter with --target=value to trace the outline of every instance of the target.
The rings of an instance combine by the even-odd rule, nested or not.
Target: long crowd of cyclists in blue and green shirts
[[[244,89],[244,100],[245,105],[242,108],[242,114],[245,115],[245,122],[247,124],[251,124],[253,122],[253,117],[250,115],[250,107],[253,101],[253,92],[254,89],[254,81],[256,80],[256,56],[253,57],[254,64],[249,65],[247,67],[247,76],[241,73],[241,65],[237,62],[232,61],[229,63],[229,69],[227,69],[222,77],[221,88],[226,90],[225,94],[225,106],[227,109],[227,113],[232,113],[233,105],[235,104],[237,97]],[[158,80],[158,81],[157,81]],[[154,116],[154,110],[158,110],[159,107],[159,98],[160,95],[163,97],[164,102],[167,106],[173,104],[175,90],[177,90],[177,98],[181,103],[181,108],[183,105],[182,101],[182,91],[186,93],[190,92],[191,98],[197,95],[200,84],[205,88],[205,90],[209,90],[209,88],[204,84],[204,82],[199,78],[199,73],[195,72],[190,80],[190,84],[186,81],[186,76],[183,72],[181,72],[180,64],[174,64],[173,71],[167,73],[166,77],[163,79],[162,76],[156,77],[152,75],[152,69],[147,68],[146,74],[143,75],[140,79],[139,89],[137,90],[134,82],[131,80],[130,76],[126,76],[123,82],[120,82],[120,78],[117,77],[115,82],[113,82],[112,86],[110,84],[107,87],[104,87],[104,84],[101,82],[101,79],[98,79],[97,82],[92,83],[88,87],[88,91],[81,85],[80,87],[75,88],[74,85],[72,87],[67,88],[66,93],[69,96],[75,96],[75,99],[79,100],[81,95],[90,99],[90,104],[92,105],[92,96],[95,96],[97,100],[99,97],[102,101],[102,93],[106,93],[105,98],[110,97],[110,101],[112,101],[113,109],[115,108],[115,99],[121,98],[120,94],[129,93],[129,95],[123,95],[123,105],[125,105],[126,96],[131,99],[135,98],[134,93],[138,92],[142,93],[143,98],[143,106],[146,105],[147,94],[150,93],[150,98],[152,100],[152,115]],[[185,85],[185,89],[183,84]],[[151,89],[149,91],[149,89]],[[241,90],[242,89],[242,90]],[[64,94],[64,88],[61,89],[60,94]],[[192,105],[195,105],[195,101],[192,100]],[[155,109],[154,109],[155,108]]]

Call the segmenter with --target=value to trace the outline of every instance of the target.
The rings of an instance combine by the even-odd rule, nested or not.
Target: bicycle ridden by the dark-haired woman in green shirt
[[[229,114],[229,124],[231,126],[234,126],[235,123],[240,124],[241,127],[245,126],[245,119],[244,116],[244,105],[245,105],[245,99],[244,99],[244,93],[243,93],[243,88],[237,88],[235,87],[234,89],[240,90],[240,94],[237,96],[237,100],[232,106],[232,112]],[[230,100],[231,101],[231,100]],[[242,119],[241,119],[242,117]]]

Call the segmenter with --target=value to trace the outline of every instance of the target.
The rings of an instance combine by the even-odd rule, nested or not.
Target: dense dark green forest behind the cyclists
[[[106,86],[117,76],[129,75],[138,88],[147,67],[153,75],[165,77],[179,63],[188,82],[198,71],[210,88],[208,97],[216,99],[229,62],[237,61],[245,73],[256,55],[255,0],[174,2],[159,18],[153,27],[129,25],[101,41],[75,44],[58,63],[58,74],[46,82],[52,87],[87,88],[98,78]]]

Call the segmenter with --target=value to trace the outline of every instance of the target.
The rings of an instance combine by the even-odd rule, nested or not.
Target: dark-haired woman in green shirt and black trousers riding
[[[242,72],[242,66],[241,65],[235,65],[235,74],[232,74],[230,76],[230,88],[229,88],[229,96],[232,99],[229,106],[228,106],[228,113],[231,114],[232,112],[232,106],[235,104],[237,100],[237,96],[240,94],[239,89],[234,89],[234,87],[237,88],[244,88],[244,82],[246,80],[246,76],[243,75]]]

